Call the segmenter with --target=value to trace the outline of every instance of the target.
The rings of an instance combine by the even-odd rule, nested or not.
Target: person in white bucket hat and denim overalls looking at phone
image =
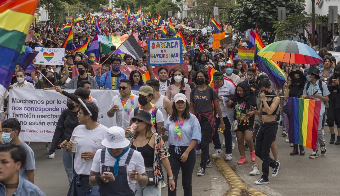
[[[109,128],[102,145],[105,148],[97,150],[93,158],[90,184],[99,185],[101,195],[135,196],[136,186],[130,179],[140,186],[148,183],[142,154],[130,149],[130,141],[121,127]]]

